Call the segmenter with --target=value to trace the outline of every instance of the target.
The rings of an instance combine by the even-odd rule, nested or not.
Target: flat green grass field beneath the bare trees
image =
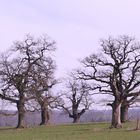
[[[109,129],[107,123],[39,126],[26,129],[1,129],[0,140],[140,140],[135,123],[123,129]]]

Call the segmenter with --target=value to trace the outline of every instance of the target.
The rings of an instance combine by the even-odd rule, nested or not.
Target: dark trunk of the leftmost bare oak
[[[18,109],[18,124],[17,128],[24,128],[24,116],[25,116],[25,109],[24,109],[24,101],[19,101],[17,103]]]

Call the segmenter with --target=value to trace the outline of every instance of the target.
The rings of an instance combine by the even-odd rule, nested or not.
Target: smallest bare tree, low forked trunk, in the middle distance
[[[93,101],[87,84],[82,80],[76,80],[72,77],[69,79],[66,88],[68,91],[63,94],[58,106],[63,108],[70,118],[73,118],[73,123],[77,123]]]

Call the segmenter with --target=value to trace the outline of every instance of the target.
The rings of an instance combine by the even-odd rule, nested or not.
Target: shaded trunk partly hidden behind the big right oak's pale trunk
[[[125,123],[128,121],[128,105],[121,106],[121,122]]]

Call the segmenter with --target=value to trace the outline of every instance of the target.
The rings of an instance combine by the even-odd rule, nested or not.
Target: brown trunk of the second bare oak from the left
[[[43,103],[41,106],[41,123],[40,123],[40,125],[48,124],[49,119],[50,119],[50,116],[49,116],[48,105]]]

